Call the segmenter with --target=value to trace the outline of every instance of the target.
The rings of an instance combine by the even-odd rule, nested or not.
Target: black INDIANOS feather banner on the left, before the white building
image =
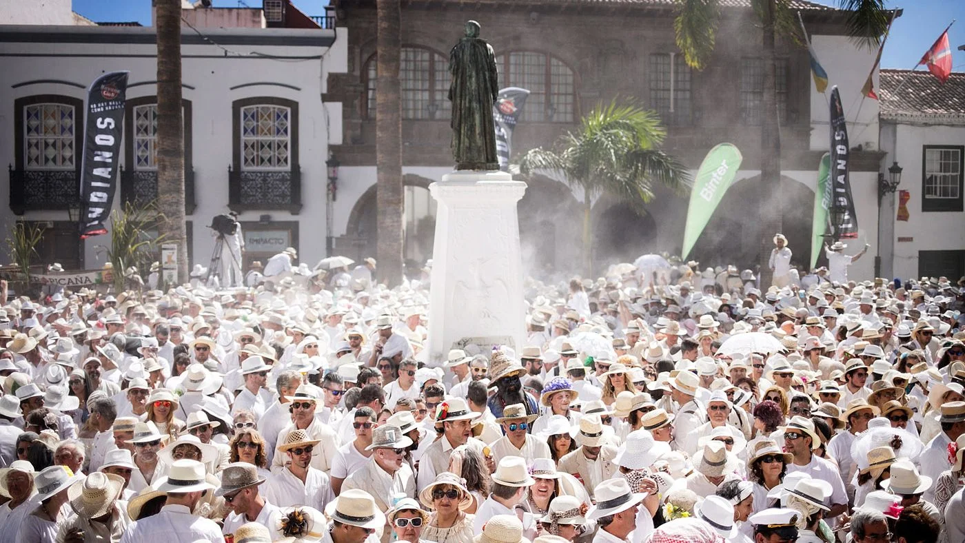
[[[84,161],[80,177],[80,238],[107,233],[121,159],[127,72],[112,71],[94,80],[87,93]]]

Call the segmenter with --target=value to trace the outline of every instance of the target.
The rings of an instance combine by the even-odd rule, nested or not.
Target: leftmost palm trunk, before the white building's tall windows
[[[184,227],[184,121],[181,114],[180,0],[156,0],[157,233],[178,244],[178,283],[187,277]],[[128,135],[129,137],[129,135]],[[118,272],[123,270],[116,270]]]

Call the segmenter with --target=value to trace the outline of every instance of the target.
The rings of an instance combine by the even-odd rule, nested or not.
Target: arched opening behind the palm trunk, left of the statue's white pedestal
[[[402,176],[403,189],[404,187],[413,187],[426,191],[425,193],[420,192],[420,197],[427,195],[428,185],[433,182],[433,179],[416,176],[414,174],[405,174]],[[348,214],[345,236],[342,238],[340,250],[338,251],[346,257],[360,260],[361,258],[372,257],[377,253],[378,215],[375,203],[377,186],[377,183],[373,183],[368,190],[362,193],[362,196],[355,201],[355,204],[352,205],[352,210]],[[432,255],[432,239],[434,238],[435,232],[435,207],[431,197],[428,197],[428,200],[432,201],[431,219],[429,219],[429,216],[415,218],[418,221],[415,227],[416,231],[413,233],[411,239],[408,235],[406,236],[405,254],[417,255],[419,257],[412,258],[413,261],[411,262],[406,261],[406,265],[410,269],[415,264],[421,264],[422,260],[431,258]],[[408,209],[406,210],[407,218],[409,211]],[[406,222],[408,222],[408,219]],[[415,244],[415,246],[412,244]],[[418,267],[415,269],[418,269]]]

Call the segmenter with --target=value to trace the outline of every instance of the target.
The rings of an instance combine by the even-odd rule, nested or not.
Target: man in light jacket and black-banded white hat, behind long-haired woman
[[[451,397],[439,403],[435,409],[434,420],[436,425],[442,424],[442,436],[423,451],[419,460],[416,486],[420,492],[435,480],[436,474],[449,468],[449,457],[453,449],[468,445],[482,451],[486,447],[482,441],[473,437],[473,421],[481,416],[482,413],[471,410],[466,400],[460,397]]]

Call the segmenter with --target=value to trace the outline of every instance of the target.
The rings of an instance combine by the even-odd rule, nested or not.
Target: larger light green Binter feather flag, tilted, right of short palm
[[[683,252],[687,258],[694,244],[701,237],[704,227],[714,214],[714,209],[724,199],[727,189],[731,188],[733,177],[737,175],[744,159],[740,149],[733,144],[720,144],[710,149],[703,158],[701,169],[694,177],[694,188],[690,193],[687,207],[687,225],[683,230]]]

